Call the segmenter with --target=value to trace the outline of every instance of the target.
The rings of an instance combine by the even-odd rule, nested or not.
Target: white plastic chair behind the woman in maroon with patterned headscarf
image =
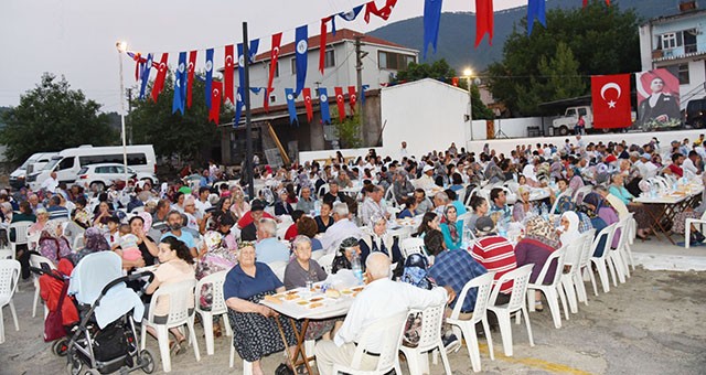
[[[547,299],[549,312],[552,312],[552,320],[554,321],[554,326],[557,329],[561,328],[561,311],[559,310],[559,300],[561,300],[561,307],[564,308],[566,320],[569,320],[569,311],[566,307],[566,296],[564,296],[564,289],[561,288],[561,272],[564,271],[564,258],[566,256],[566,248],[567,246],[561,246],[561,248],[553,251],[544,262],[542,271],[539,271],[539,276],[537,276],[535,282],[527,283],[527,304],[530,304],[530,311],[535,311],[534,291],[539,290]],[[547,276],[549,267],[553,262],[556,262],[554,278],[552,279],[552,283],[545,285],[543,283],[544,279]]]

